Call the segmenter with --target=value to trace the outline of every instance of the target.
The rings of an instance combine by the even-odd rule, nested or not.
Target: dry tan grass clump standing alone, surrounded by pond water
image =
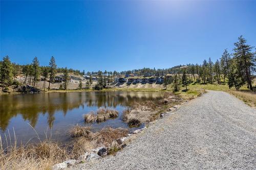
[[[112,110],[112,109],[99,108],[97,111],[97,114],[94,114],[94,112],[90,112],[89,114],[84,114],[83,117],[84,117],[84,122],[86,123],[93,123],[93,122],[100,123],[110,118],[118,117],[118,111]]]

